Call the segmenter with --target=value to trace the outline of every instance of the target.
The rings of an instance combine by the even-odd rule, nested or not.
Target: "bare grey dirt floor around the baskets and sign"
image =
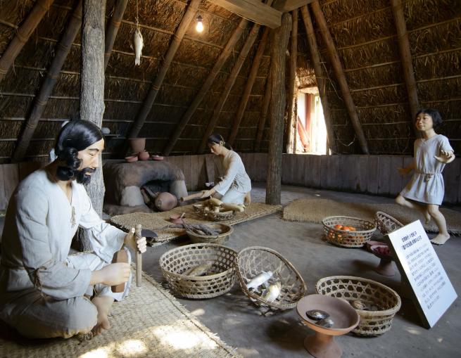
[[[253,200],[263,201],[264,196],[263,186],[253,190]],[[315,197],[357,203],[392,202],[391,198],[283,186],[283,204],[297,198]],[[460,207],[454,209],[460,210]],[[187,239],[178,239],[148,248],[143,257],[144,271],[168,288],[158,266],[158,259],[164,252],[188,243]],[[286,222],[282,220],[281,213],[234,226],[234,234],[226,245],[235,250],[253,245],[277,250],[300,271],[308,285],[308,293],[315,293],[315,283],[319,279],[334,275],[373,279],[400,292],[398,270],[391,278],[381,276],[374,272],[379,259],[370,252],[339,248],[326,243],[322,241],[321,224]],[[446,245],[437,246],[435,250],[455,290],[460,293],[461,239],[451,238]],[[244,357],[310,357],[303,347],[303,340],[313,331],[301,324],[296,309],[263,316],[244,296],[238,283],[229,293],[218,298],[179,301],[211,331],[236,347]],[[336,340],[343,347],[343,357],[457,357],[461,350],[460,331],[459,300],[455,301],[434,328],[427,330],[423,328],[412,302],[403,298],[402,308],[393,320],[391,331],[377,338],[358,338],[349,334]]]

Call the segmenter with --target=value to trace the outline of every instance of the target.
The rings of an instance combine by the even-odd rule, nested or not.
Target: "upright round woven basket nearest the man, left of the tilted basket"
[[[177,295],[184,298],[213,298],[227,293],[235,283],[237,252],[213,243],[194,243],[165,252],[160,269]],[[207,276],[186,276],[184,271],[213,261]]]

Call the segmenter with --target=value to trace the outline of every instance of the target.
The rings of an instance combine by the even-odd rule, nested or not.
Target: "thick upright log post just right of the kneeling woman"
[[[270,103],[270,137],[267,157],[266,204],[280,204],[282,186],[282,151],[284,141],[285,53],[291,30],[291,15],[282,15],[282,26],[272,30],[270,39],[270,72],[272,101]]]

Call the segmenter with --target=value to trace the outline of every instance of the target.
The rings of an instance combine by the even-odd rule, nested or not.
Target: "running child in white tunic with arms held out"
[[[415,141],[415,158],[412,165],[398,168],[402,175],[412,170],[415,172],[396,198],[396,203],[420,210],[426,219],[426,224],[431,218],[434,219],[438,226],[438,235],[431,240],[431,243],[436,245],[443,245],[450,238],[445,217],[438,207],[445,193],[443,168],[455,160],[448,138],[434,131],[434,128],[441,123],[442,117],[438,110],[422,109],[416,114],[415,126],[422,134],[422,138]]]

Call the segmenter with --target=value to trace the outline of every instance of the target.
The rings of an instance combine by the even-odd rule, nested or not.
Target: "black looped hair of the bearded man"
[[[77,158],[78,152],[101,139],[103,139],[101,129],[87,120],[72,120],[65,124],[54,146],[57,160],[63,162],[63,165],[58,166],[56,177],[64,181],[75,178],[82,162]]]

